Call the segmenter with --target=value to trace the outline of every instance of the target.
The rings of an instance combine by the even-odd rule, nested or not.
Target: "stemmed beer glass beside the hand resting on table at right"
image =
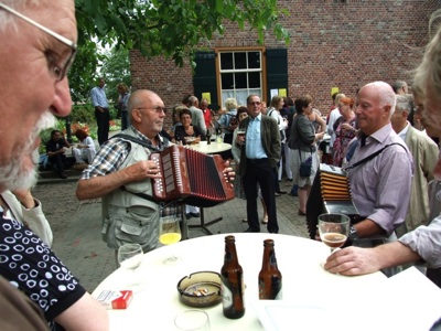
[[[322,242],[331,247],[342,247],[349,234],[351,218],[343,214],[322,214],[319,216],[319,234]]]

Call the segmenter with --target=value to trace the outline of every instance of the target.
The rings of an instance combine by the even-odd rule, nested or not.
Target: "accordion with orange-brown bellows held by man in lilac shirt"
[[[348,178],[341,168],[321,163],[306,202],[308,232],[312,239],[315,237],[319,215],[323,213],[345,214],[352,224],[359,221]]]

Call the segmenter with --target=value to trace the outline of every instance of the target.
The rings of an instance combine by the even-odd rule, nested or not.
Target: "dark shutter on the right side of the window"
[[[287,49],[267,49],[267,105],[271,103],[271,89],[286,88],[288,95]]]

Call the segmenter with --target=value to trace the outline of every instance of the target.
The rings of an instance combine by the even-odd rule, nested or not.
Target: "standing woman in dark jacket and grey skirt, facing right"
[[[315,134],[308,117],[312,113],[310,96],[301,96],[295,99],[295,113],[288,146],[293,150],[291,169],[293,184],[299,185],[299,215],[306,215],[306,201],[319,167],[316,142],[323,139],[324,132]]]

